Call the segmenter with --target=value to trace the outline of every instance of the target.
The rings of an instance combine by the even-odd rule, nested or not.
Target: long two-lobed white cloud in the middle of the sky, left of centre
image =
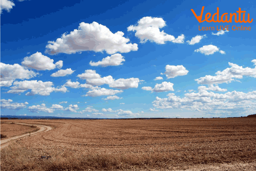
[[[87,84],[93,86],[109,84],[109,87],[117,89],[137,88],[140,82],[138,78],[120,78],[118,80],[114,80],[111,75],[107,77],[101,77],[99,74],[96,73],[95,70],[85,70],[85,73],[79,74],[77,75],[77,77],[86,80]]]

